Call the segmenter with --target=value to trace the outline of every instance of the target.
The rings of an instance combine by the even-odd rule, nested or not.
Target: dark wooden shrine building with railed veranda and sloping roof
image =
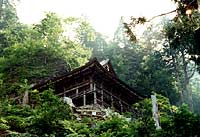
[[[33,88],[42,91],[49,86],[60,97],[71,98],[75,107],[100,106],[125,112],[131,110],[132,104],[143,99],[117,78],[109,60],[98,62],[96,58],[80,68],[39,83]]]

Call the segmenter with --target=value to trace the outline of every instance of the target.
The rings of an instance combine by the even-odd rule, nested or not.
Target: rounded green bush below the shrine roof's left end
[[[46,90],[40,94],[40,99],[35,106],[34,114],[31,117],[29,132],[37,135],[59,134],[59,121],[70,119],[71,113],[68,105],[64,104],[52,90]]]

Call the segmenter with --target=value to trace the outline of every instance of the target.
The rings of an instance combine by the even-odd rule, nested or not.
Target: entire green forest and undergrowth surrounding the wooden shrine
[[[0,136],[198,137],[200,136],[200,13],[196,0],[174,0],[173,19],[119,19],[114,38],[84,17],[47,13],[38,23],[19,22],[12,0],[0,0]],[[200,2],[200,1],[199,1]],[[148,24],[138,37],[135,28]],[[54,94],[31,87],[96,57],[110,59],[120,79],[146,97],[137,115],[110,113],[104,120],[77,120]],[[29,92],[30,104],[23,102]],[[157,97],[161,129],[152,118]],[[127,120],[127,118],[131,118]]]

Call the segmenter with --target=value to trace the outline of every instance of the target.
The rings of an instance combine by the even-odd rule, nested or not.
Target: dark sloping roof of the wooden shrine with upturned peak
[[[107,68],[107,67],[109,67],[109,68]],[[104,78],[108,79],[109,81],[112,81],[113,83],[115,83],[117,85],[120,85],[122,88],[129,91],[130,94],[136,96],[138,99],[144,98],[143,96],[139,95],[132,87],[127,85],[125,82],[123,82],[116,76],[115,71],[114,71],[109,59],[99,62],[96,58],[93,58],[85,65],[83,65],[79,68],[76,68],[62,76],[50,78],[48,80],[33,84],[32,89],[42,89],[44,87],[47,87],[50,84],[58,83],[59,81],[62,81],[64,79],[68,79],[73,76],[80,75],[83,72],[91,70],[91,68],[95,68],[95,71],[101,72],[102,78],[104,77]]]

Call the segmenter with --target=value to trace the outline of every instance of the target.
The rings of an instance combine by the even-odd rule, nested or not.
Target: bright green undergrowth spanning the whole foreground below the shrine
[[[77,121],[72,119],[68,105],[55,96],[52,90],[46,90],[38,93],[40,99],[34,107],[1,101],[0,131],[7,131],[10,136],[19,137],[194,137],[200,135],[199,115],[191,113],[185,106],[174,108],[167,98],[156,96],[162,127],[159,130],[155,129],[152,119],[150,99],[134,105],[137,115],[132,120],[113,114],[101,121],[87,117]]]

